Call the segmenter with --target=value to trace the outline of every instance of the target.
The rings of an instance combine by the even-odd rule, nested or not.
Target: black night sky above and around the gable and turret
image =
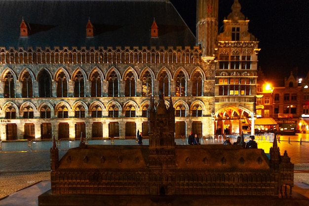
[[[234,0],[219,0],[219,28]],[[196,0],[171,0],[195,35]],[[249,32],[259,43],[258,67],[268,79],[283,80],[309,72],[309,0],[239,0]],[[296,69],[297,68],[297,69]]]

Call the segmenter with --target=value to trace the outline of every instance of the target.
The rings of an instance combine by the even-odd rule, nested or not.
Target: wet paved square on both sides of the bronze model
[[[278,142],[281,155],[287,150],[291,162],[295,164],[293,191],[309,198],[309,143],[300,144],[282,140]],[[269,153],[272,143],[263,140],[257,142],[259,148]],[[59,151],[59,158],[66,152]],[[23,206],[38,206],[37,194],[48,189],[50,189],[49,152],[0,153],[0,206],[18,205],[14,201],[24,196],[27,198],[23,201]]]

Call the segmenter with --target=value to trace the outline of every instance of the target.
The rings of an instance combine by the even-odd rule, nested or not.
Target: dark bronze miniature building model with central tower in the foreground
[[[262,149],[241,145],[175,145],[173,102],[170,98],[167,109],[159,96],[156,108],[150,100],[149,146],[81,144],[58,161],[54,144],[51,191],[39,196],[39,205],[185,206],[207,201],[228,206],[227,197],[241,200],[233,206],[291,204],[279,196],[292,195],[294,165],[286,151],[280,155],[276,139],[270,159]]]

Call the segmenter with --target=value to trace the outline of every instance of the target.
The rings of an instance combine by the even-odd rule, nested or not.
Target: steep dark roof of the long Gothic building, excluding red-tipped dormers
[[[151,38],[153,21],[158,38]],[[20,37],[22,19],[30,36]],[[90,19],[94,37],[86,37]],[[195,37],[169,0],[2,0],[0,47],[194,46]]]

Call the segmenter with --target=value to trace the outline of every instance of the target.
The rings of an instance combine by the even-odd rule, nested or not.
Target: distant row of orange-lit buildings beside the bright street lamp
[[[276,85],[259,70],[255,129],[275,129],[280,134],[309,132],[308,86],[309,75],[297,78],[291,72],[282,85]]]

